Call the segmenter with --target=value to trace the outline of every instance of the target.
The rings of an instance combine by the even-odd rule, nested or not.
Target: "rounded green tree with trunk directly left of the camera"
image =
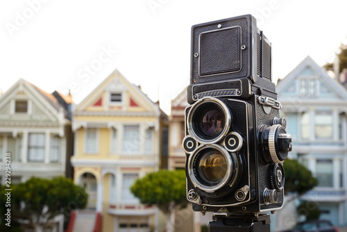
[[[137,179],[131,192],[142,204],[155,205],[167,216],[167,231],[174,231],[175,212],[187,205],[185,171],[160,170]]]

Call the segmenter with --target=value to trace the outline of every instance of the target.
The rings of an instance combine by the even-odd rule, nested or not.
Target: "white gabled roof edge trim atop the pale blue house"
[[[338,94],[341,99],[347,101],[347,90],[335,79],[331,78],[326,70],[323,67],[320,67],[310,56],[307,56],[301,63],[298,64],[285,78],[278,81],[278,85],[276,86],[276,92],[278,92],[278,96],[280,97],[280,93],[287,88],[289,83],[298,77],[301,72],[307,67],[316,72],[316,74],[323,79],[323,81],[330,87],[332,90]]]

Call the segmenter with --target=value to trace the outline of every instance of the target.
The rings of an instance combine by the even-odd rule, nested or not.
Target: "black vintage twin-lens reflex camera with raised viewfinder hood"
[[[271,43],[243,15],[192,26],[191,56],[187,199],[226,215],[280,209],[291,136],[271,82]]]

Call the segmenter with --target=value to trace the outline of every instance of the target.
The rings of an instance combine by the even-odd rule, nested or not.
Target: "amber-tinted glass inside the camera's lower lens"
[[[216,185],[227,172],[226,158],[217,150],[205,151],[198,161],[198,176],[205,185]]]

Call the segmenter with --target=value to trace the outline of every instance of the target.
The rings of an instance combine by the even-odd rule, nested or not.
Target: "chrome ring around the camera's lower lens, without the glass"
[[[204,185],[203,183],[198,181],[198,179],[196,179],[195,174],[194,174],[194,162],[193,161],[195,160],[196,156],[199,154],[200,151],[202,151],[203,149],[208,149],[208,148],[217,149],[218,151],[220,151],[221,155],[223,155],[227,161],[226,175],[223,177],[222,181],[218,185],[215,185],[215,186]],[[228,183],[230,181],[231,174],[232,174],[231,169],[232,169],[232,159],[230,157],[229,152],[217,144],[201,144],[199,147],[196,148],[194,153],[191,156],[189,156],[189,159],[188,159],[188,170],[187,171],[189,172],[190,181],[192,181],[195,188],[199,188],[200,190],[203,190],[205,192],[214,192],[214,191],[217,191],[217,190],[223,188],[225,185],[228,185]]]

